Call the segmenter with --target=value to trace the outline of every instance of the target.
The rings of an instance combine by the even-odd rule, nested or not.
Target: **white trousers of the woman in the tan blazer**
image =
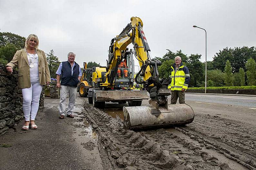
[[[30,88],[21,89],[23,96],[23,113],[25,121],[35,120],[43,86],[39,82],[31,83]]]

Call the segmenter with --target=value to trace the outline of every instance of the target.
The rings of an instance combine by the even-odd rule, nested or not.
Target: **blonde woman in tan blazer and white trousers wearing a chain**
[[[23,130],[36,129],[34,123],[39,107],[42,88],[50,84],[51,76],[44,51],[38,49],[39,40],[36,35],[30,34],[25,41],[25,48],[18,50],[12,61],[6,65],[8,72],[18,67],[18,85],[23,95],[23,113],[25,124]]]

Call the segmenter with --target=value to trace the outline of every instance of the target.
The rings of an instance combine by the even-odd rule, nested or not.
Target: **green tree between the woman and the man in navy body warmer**
[[[58,70],[60,61],[57,56],[54,56],[54,50],[51,50],[49,54],[46,54],[46,59],[48,62],[51,77],[56,78],[56,71]]]

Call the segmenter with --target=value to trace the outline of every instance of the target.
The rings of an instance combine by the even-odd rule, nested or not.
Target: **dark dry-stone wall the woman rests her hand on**
[[[39,111],[44,109],[44,91],[39,102]],[[23,120],[22,92],[18,89],[18,72],[6,72],[5,66],[0,64],[0,134],[14,127]]]

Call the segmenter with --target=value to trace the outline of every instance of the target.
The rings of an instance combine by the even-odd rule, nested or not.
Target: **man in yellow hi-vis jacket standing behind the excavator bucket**
[[[190,75],[188,67],[184,66],[181,57],[175,57],[175,63],[171,66],[171,84],[168,89],[171,89],[171,104],[176,104],[179,98],[179,103],[185,103],[185,91],[188,89]]]

